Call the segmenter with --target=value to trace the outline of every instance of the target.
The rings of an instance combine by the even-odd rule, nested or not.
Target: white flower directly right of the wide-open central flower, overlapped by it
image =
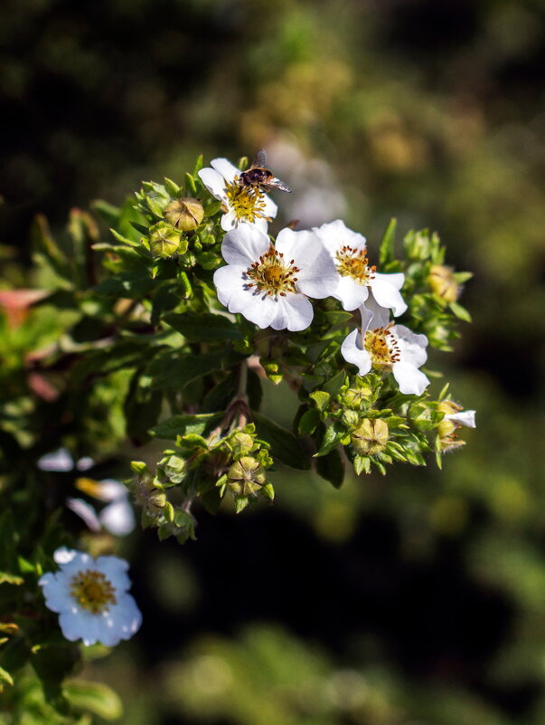
[[[369,265],[367,242],[362,234],[352,232],[340,219],[315,227],[314,231],[331,254],[339,273],[333,296],[341,300],[344,310],[361,307],[370,291],[379,305],[390,308],[395,317],[407,310],[399,293],[405,275],[376,272],[376,267]]]

